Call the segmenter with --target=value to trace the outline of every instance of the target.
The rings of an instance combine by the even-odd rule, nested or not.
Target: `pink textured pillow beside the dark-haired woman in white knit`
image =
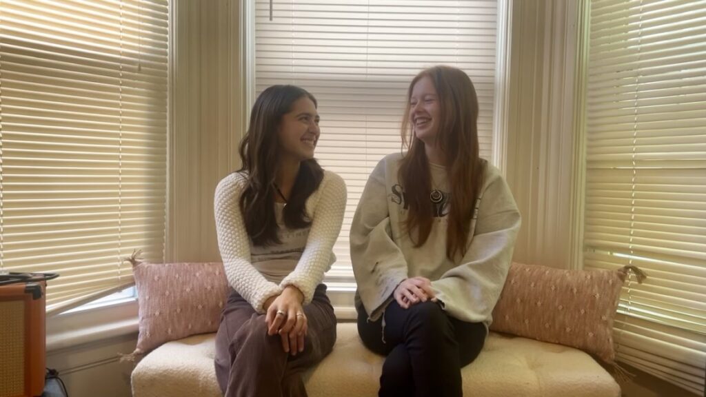
[[[218,330],[228,294],[222,263],[136,263],[140,333],[133,354]]]

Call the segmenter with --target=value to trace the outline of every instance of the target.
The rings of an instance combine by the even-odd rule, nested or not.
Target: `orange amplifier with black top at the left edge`
[[[49,278],[54,277],[0,275],[0,397],[42,396],[46,367],[44,291]]]

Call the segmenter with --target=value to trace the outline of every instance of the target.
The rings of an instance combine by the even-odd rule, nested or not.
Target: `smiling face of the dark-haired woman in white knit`
[[[292,104],[292,109],[282,116],[277,138],[280,154],[292,160],[303,161],[313,158],[318,136],[318,112],[309,97],[301,97]]]

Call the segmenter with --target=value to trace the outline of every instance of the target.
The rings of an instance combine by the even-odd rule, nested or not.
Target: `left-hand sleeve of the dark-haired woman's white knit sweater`
[[[282,288],[265,280],[250,262],[250,240],[240,211],[240,196],[244,186],[244,177],[234,173],[222,179],[216,187],[216,234],[228,283],[256,312],[262,314],[265,312],[265,301],[280,295]]]

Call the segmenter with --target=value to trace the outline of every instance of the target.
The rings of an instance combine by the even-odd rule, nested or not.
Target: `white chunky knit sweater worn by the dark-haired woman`
[[[341,230],[346,206],[346,185],[337,174],[324,171],[318,189],[306,200],[306,214],[311,219],[309,237],[296,267],[279,285],[268,281],[251,261],[252,241],[247,235],[240,209],[240,196],[246,187],[246,176],[234,172],[216,187],[214,207],[218,247],[229,284],[258,313],[268,298],[279,295],[287,285],[294,285],[309,304],[323,273],[330,268],[330,257]]]

